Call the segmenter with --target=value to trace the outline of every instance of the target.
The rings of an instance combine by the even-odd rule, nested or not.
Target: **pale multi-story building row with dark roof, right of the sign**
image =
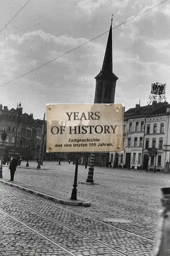
[[[170,105],[167,102],[129,109],[124,114],[124,152],[111,153],[114,166],[163,172],[170,155]],[[157,149],[157,155],[149,151]]]

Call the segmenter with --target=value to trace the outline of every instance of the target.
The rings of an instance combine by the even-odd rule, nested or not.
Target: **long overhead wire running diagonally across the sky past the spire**
[[[133,19],[139,17],[140,15],[142,15],[142,14],[144,14],[144,13],[146,13],[146,12],[149,12],[150,10],[152,10],[152,9],[154,9],[154,8],[156,8],[156,7],[160,6],[160,5],[162,5],[162,4],[164,4],[164,3],[167,2],[167,1],[168,1],[168,0],[164,0],[163,2],[161,2],[161,3],[159,3],[159,4],[155,5],[155,6],[153,6],[153,7],[151,7],[151,8],[149,8],[149,9],[147,9],[147,10],[144,10],[143,12],[141,12],[141,13],[139,13],[139,14],[136,14],[135,16],[132,16],[132,17],[128,18],[125,22],[120,23],[120,24],[118,24],[117,26],[113,27],[112,30],[114,30],[114,29],[116,29],[116,28],[118,28],[118,27],[120,27],[120,26],[122,26],[122,25],[124,25],[124,24],[126,24],[126,23],[128,23],[128,22],[130,22],[131,20],[133,20]],[[105,35],[105,34],[108,33],[108,32],[109,32],[109,30],[103,32],[102,34],[100,34],[100,35],[98,35],[98,36],[93,37],[92,39],[88,40],[87,42],[84,42],[82,45],[79,45],[79,46],[77,46],[77,47],[75,47],[75,48],[73,48],[73,49],[71,49],[71,50],[69,50],[69,51],[67,51],[67,52],[65,52],[65,53],[63,53],[63,54],[61,54],[61,55],[58,56],[58,57],[55,57],[55,58],[53,58],[52,60],[49,60],[49,61],[43,63],[43,64],[40,65],[39,67],[37,67],[37,68],[35,68],[35,69],[32,69],[32,70],[30,70],[29,72],[27,72],[27,73],[25,73],[25,74],[22,74],[22,75],[16,77],[15,79],[13,79],[13,80],[11,80],[11,81],[9,81],[9,82],[6,82],[5,84],[2,84],[2,86],[0,86],[0,88],[6,86],[7,84],[9,84],[9,83],[11,83],[11,82],[14,82],[14,81],[18,80],[19,78],[21,78],[21,77],[23,77],[23,76],[26,76],[26,75],[32,73],[33,71],[36,71],[36,70],[38,70],[38,69],[40,69],[40,68],[42,68],[42,67],[48,65],[49,63],[51,63],[51,62],[53,62],[53,61],[55,61],[55,60],[57,60],[57,59],[59,59],[59,58],[65,56],[65,55],[67,55],[68,53],[71,53],[71,52],[73,52],[73,51],[75,51],[75,50],[81,48],[81,47],[84,46],[84,45],[87,45],[89,42],[95,40],[96,38],[101,37],[102,35]]]

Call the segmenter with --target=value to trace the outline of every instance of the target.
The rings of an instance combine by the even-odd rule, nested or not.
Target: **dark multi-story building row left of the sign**
[[[27,148],[30,146],[30,158],[35,159],[37,155],[37,132],[41,133],[42,125],[33,118],[33,114],[22,113],[18,121],[17,131],[17,110],[9,110],[7,106],[0,104],[0,133],[4,129],[7,132],[7,139],[5,141],[6,151],[9,153],[14,152],[15,139],[16,139],[16,153],[20,156],[27,158]],[[17,136],[16,136],[17,132]],[[0,137],[0,146],[2,140]],[[40,143],[40,141],[38,141]],[[2,154],[2,150],[1,150]]]

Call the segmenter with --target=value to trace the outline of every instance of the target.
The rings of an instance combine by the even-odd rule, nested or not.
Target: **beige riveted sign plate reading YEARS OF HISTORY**
[[[122,104],[47,104],[49,152],[123,151]]]

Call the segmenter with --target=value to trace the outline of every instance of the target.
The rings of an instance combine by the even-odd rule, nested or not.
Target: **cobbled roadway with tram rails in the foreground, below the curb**
[[[3,212],[5,211],[19,222],[24,223],[48,240],[74,253],[74,255],[152,255],[152,241],[138,238],[123,230],[118,230],[104,223],[82,217],[77,215],[76,212],[65,210],[45,199],[28,194],[17,188],[6,186],[2,183],[0,183],[0,191],[0,213],[2,210]],[[2,242],[4,242],[4,240],[6,241],[5,245],[3,243],[4,251],[0,251],[3,256],[20,255],[18,253],[27,255],[25,254],[25,250],[26,252],[30,250],[30,252],[33,253],[29,255],[67,255],[63,252],[60,254],[61,250],[57,251],[57,254],[55,254],[56,248],[54,248],[54,245],[52,248],[51,245],[47,246],[45,244],[46,241],[37,238],[37,234],[35,236],[28,228],[21,226],[19,229],[20,226],[18,227],[18,223],[14,221],[13,224],[9,217],[5,217],[1,225],[3,230]],[[10,236],[8,238],[10,228],[12,228],[12,234],[14,234],[10,250],[12,250],[12,246],[17,247],[15,249],[16,253],[13,252],[13,254],[9,253],[7,249],[10,244]],[[17,234],[19,234],[19,236],[17,236]],[[20,236],[22,237],[21,240],[19,240]],[[34,239],[38,241],[36,243],[36,247],[38,246],[39,249],[38,252],[35,249],[36,247],[34,247]],[[23,245],[20,246],[21,244]],[[40,254],[42,253],[40,249],[44,244],[48,249],[43,251],[44,254]],[[48,254],[49,250],[51,254]],[[57,248],[57,250],[59,249]],[[7,254],[5,254],[5,252],[7,252]],[[122,254],[118,252],[122,252]]]

